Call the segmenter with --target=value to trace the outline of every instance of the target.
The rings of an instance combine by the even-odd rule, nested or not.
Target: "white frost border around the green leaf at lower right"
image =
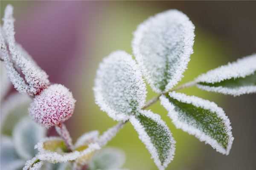
[[[202,130],[195,128],[192,125],[188,125],[186,122],[179,119],[179,113],[175,111],[175,106],[171,102],[169,102],[169,100],[165,96],[160,96],[161,105],[166,108],[166,110],[168,111],[168,116],[172,119],[172,122],[177,128],[196,136],[200,141],[204,141],[205,143],[210,144],[218,152],[225,155],[229,154],[234,138],[231,132],[232,127],[230,126],[230,120],[228,119],[222,108],[219,108],[214,102],[210,102],[209,100],[201,99],[196,96],[186,96],[185,94],[176,92],[170,92],[169,96],[177,99],[180,102],[192,104],[196,107],[204,108],[213,113],[216,113],[217,116],[223,120],[223,123],[226,127],[226,132],[228,135],[227,149],[224,149],[215,139],[212,139],[211,136],[208,136],[206,133],[202,132]]]

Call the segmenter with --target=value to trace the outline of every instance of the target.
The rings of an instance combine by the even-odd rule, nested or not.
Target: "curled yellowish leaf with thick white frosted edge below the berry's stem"
[[[84,156],[91,155],[96,150],[99,150],[99,144],[93,143],[89,144],[88,147],[81,151],[73,151],[67,153],[67,147],[64,145],[64,141],[58,137],[45,138],[43,141],[39,142],[35,149],[38,149],[39,153],[37,155],[38,159],[42,161],[49,161],[52,163],[74,161]]]

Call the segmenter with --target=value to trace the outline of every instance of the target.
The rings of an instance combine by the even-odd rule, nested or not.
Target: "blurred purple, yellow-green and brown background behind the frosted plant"
[[[256,53],[256,2],[244,1],[0,1],[15,10],[16,39],[49,74],[51,82],[70,88],[76,110],[67,121],[71,136],[116,124],[94,102],[93,84],[102,58],[115,50],[132,53],[137,25],[151,15],[176,8],[195,24],[194,54],[184,83],[209,69]],[[155,96],[148,88],[148,99]],[[256,95],[233,98],[189,88],[182,92],[216,102],[229,116],[235,140],[229,156],[215,152],[194,136],[177,130],[158,103],[159,113],[176,139],[168,170],[255,170]],[[11,92],[10,92],[11,93]],[[49,130],[49,135],[55,135]],[[124,150],[130,170],[157,170],[150,154],[128,123],[109,146]]]

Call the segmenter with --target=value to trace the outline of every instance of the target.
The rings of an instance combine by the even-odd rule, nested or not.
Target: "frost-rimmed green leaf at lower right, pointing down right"
[[[233,143],[230,120],[215,103],[171,92],[160,97],[174,125],[228,155]]]

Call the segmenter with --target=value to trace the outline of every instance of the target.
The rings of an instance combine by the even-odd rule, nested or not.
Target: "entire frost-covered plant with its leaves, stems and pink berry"
[[[206,91],[233,96],[255,93],[256,54],[213,69],[191,82],[175,87],[183,77],[193,53],[195,26],[185,14],[177,10],[150,17],[134,32],[132,48],[135,60],[125,51],[115,51],[103,59],[96,73],[93,88],[96,104],[119,122],[102,135],[98,131],[84,133],[73,144],[64,122],[73,114],[75,99],[63,85],[50,85],[47,74],[15,41],[12,11],[12,6],[7,6],[3,17],[0,59],[17,91],[31,96],[29,115],[32,119],[45,128],[55,126],[61,136],[46,138],[36,133],[39,136],[36,139],[41,139],[35,145],[38,152],[33,153],[33,158],[29,154],[23,155],[24,159],[30,159],[23,170],[37,170],[44,166],[58,170],[120,169],[125,161],[124,154],[113,148],[102,147],[128,122],[134,126],[158,169],[164,170],[174,158],[175,139],[160,115],[146,110],[158,100],[177,128],[194,135],[224,155],[230,153],[234,138],[230,120],[223,109],[214,102],[176,91],[197,86]],[[20,75],[19,69],[24,77]],[[143,78],[158,94],[148,102]],[[13,147],[11,139],[6,142],[2,137],[6,150],[12,147],[13,153],[28,152],[29,147],[21,147],[23,140],[26,140],[24,136],[30,134],[23,130],[28,127],[26,124],[29,124],[29,120],[26,118],[21,121],[16,125],[20,128],[14,128],[12,132],[13,140],[21,139],[20,144],[14,142]],[[58,163],[58,166],[49,163]]]

